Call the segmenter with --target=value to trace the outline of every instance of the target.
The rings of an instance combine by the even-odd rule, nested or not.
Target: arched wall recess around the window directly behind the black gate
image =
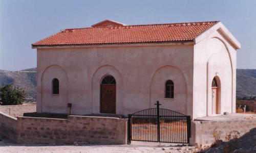
[[[174,83],[174,98],[165,98],[165,83]],[[162,66],[154,73],[150,85],[150,108],[159,100],[161,108],[187,114],[187,84],[184,74],[175,66]]]

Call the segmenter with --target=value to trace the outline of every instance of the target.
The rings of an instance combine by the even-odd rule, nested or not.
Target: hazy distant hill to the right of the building
[[[237,69],[237,96],[256,96],[256,69]]]

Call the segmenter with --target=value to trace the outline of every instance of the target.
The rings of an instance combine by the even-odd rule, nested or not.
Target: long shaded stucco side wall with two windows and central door
[[[116,79],[116,114],[155,108],[159,100],[160,108],[192,115],[193,57],[193,44],[37,48],[37,112],[59,106],[58,113],[69,113],[72,103],[72,114],[99,113],[100,81],[110,74]],[[59,81],[65,91],[51,95],[50,82],[64,72]],[[167,80],[174,81],[174,99],[164,98]]]

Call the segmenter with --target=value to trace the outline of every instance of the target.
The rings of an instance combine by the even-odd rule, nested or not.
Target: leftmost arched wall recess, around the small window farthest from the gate
[[[52,93],[54,79],[59,81],[58,94]],[[68,75],[62,67],[52,65],[45,69],[41,77],[41,112],[68,113],[68,84]]]

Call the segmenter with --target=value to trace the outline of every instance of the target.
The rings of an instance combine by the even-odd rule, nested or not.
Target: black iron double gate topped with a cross
[[[190,116],[157,108],[129,114],[128,141],[189,143]]]

